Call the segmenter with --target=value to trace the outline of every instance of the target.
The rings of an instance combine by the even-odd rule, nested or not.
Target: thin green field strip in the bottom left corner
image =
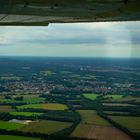
[[[41,140],[41,139],[23,136],[0,135],[0,140]]]

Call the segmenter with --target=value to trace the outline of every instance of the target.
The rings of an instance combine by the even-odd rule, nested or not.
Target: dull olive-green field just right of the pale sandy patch
[[[22,128],[21,131],[52,134],[70,126],[71,123],[40,120],[30,123],[28,126]]]

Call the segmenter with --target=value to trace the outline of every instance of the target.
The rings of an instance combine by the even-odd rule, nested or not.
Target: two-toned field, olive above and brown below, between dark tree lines
[[[95,110],[78,110],[81,123],[71,137],[99,140],[131,140],[131,138],[101,118]]]

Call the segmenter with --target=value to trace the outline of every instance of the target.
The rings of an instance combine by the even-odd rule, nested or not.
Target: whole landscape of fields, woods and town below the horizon
[[[87,60],[0,59],[0,75],[21,77],[0,80],[0,139],[139,140],[140,68],[129,81],[133,69],[120,60]]]

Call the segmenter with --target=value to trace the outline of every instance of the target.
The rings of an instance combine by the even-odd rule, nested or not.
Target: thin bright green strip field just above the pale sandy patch
[[[41,116],[41,115],[43,115],[43,113],[37,113],[37,112],[10,112],[10,115],[30,117],[30,116]]]

